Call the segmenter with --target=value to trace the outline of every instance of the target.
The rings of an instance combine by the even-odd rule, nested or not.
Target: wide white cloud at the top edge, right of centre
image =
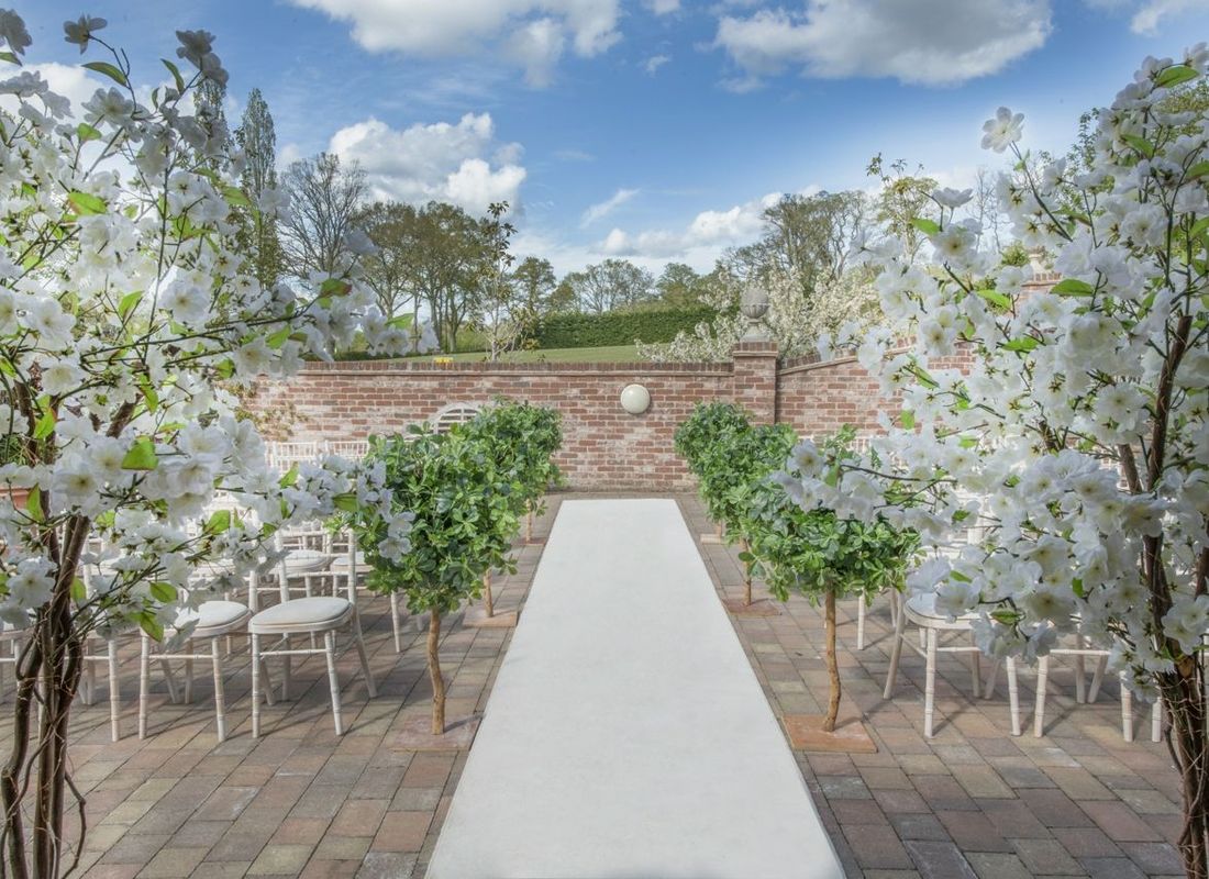
[[[1049,0],[806,0],[802,13],[723,16],[715,46],[746,74],[736,91],[787,68],[954,85],[1001,70],[1049,31]]]

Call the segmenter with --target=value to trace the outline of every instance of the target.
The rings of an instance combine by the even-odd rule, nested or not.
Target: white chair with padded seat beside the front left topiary
[[[331,713],[336,724],[336,735],[343,735],[345,725],[340,706],[340,677],[336,673],[336,632],[348,629],[353,646],[360,660],[361,675],[370,698],[377,695],[374,677],[370,675],[369,659],[365,655],[365,643],[361,638],[361,624],[357,613],[357,553],[349,544],[349,576],[346,579],[347,597],[307,596],[289,597],[289,576],[284,559],[278,561],[277,578],[280,586],[280,603],[258,612],[248,623],[248,635],[251,638],[251,735],[260,736],[260,673],[261,663],[270,657],[284,659],[282,677],[282,698],[289,698],[290,658],[323,653],[328,660],[328,681],[331,688]],[[253,574],[253,588],[256,576]],[[295,635],[323,636],[323,647],[296,648],[291,643]],[[274,647],[261,650],[261,638],[276,638]]]

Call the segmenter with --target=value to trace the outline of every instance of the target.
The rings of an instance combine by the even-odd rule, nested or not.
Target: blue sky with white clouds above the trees
[[[383,197],[517,208],[516,250],[708,268],[762,199],[867,187],[877,152],[960,184],[1006,104],[1063,150],[1147,54],[1209,39],[1207,0],[59,0],[18,2],[28,60],[94,85],[62,22],[110,22],[135,77],[206,28],[229,112],[259,87],[283,160],[330,149]],[[98,57],[89,50],[87,58]],[[87,59],[86,58],[86,59]]]

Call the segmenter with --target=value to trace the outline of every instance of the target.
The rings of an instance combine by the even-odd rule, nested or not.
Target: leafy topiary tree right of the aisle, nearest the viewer
[[[846,456],[854,432],[845,428],[825,443],[835,457]],[[786,493],[786,473],[760,480],[751,495],[747,539],[762,578],[781,601],[799,592],[811,605],[823,605],[827,638],[827,675],[831,694],[823,731],[835,731],[841,695],[835,655],[835,601],[860,597],[868,601],[889,585],[902,582],[918,544],[910,531],[892,527],[884,519],[845,519],[827,509],[803,509]],[[806,462],[812,465],[811,462]]]

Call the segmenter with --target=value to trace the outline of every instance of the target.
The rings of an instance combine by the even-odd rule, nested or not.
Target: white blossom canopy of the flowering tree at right
[[[1080,631],[1143,693],[1209,635],[1209,116],[1172,111],[1209,51],[1150,59],[1099,111],[1089,169],[1001,183],[1016,237],[1062,281],[996,267],[968,193],[935,193],[935,261],[863,247],[901,332],[849,330],[887,399],[886,433],[832,461],[803,443],[779,481],[803,505],[919,531],[909,584],[978,613],[993,654],[1035,657]],[[1017,146],[1007,109],[983,145]],[[1080,207],[1081,206],[1081,207]],[[967,539],[970,538],[970,539]]]

